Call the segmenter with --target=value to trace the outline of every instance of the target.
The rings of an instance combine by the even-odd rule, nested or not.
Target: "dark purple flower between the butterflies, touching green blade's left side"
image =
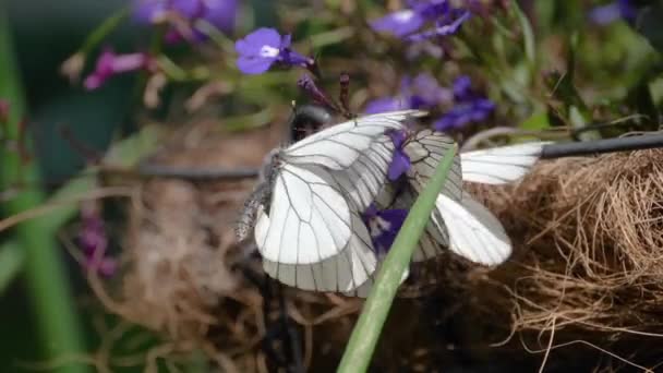
[[[378,255],[384,255],[389,251],[407,216],[407,209],[379,210],[373,204],[362,214],[362,219],[369,228],[373,241],[373,249]]]

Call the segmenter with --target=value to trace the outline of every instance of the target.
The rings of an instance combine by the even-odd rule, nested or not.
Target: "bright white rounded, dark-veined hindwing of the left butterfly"
[[[279,168],[269,215],[260,214],[255,225],[255,241],[265,260],[317,263],[348,245],[352,236],[348,203],[318,172],[288,164]]]

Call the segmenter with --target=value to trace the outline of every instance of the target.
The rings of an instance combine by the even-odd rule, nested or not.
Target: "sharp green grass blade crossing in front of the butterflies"
[[[435,200],[444,186],[455,154],[456,147],[447,151],[437,165],[435,175],[412,205],[394,245],[377,273],[377,279],[359,321],[354,325],[338,372],[365,372],[369,368],[400,279],[408,268],[421,233],[430,220],[435,207]]]

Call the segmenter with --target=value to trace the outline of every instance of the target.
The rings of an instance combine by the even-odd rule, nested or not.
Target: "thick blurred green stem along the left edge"
[[[10,104],[8,135],[12,141],[19,141],[19,127],[25,110],[4,5],[0,8],[0,97]],[[24,161],[17,152],[0,148],[0,189],[20,184],[25,179],[36,180],[37,165]],[[39,206],[44,201],[39,190],[26,189],[1,207],[12,215]],[[83,342],[63,258],[48,227],[48,217],[41,217],[21,222],[14,232],[16,243],[25,253],[25,280],[37,330],[46,358],[51,361],[81,353]],[[87,370],[80,364],[70,364],[56,371]]]

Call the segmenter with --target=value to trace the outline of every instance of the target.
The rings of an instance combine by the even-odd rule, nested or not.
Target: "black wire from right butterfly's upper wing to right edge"
[[[655,147],[663,147],[663,133],[576,143],[549,144],[541,151],[541,158],[552,159],[589,156],[602,153],[642,151]]]

